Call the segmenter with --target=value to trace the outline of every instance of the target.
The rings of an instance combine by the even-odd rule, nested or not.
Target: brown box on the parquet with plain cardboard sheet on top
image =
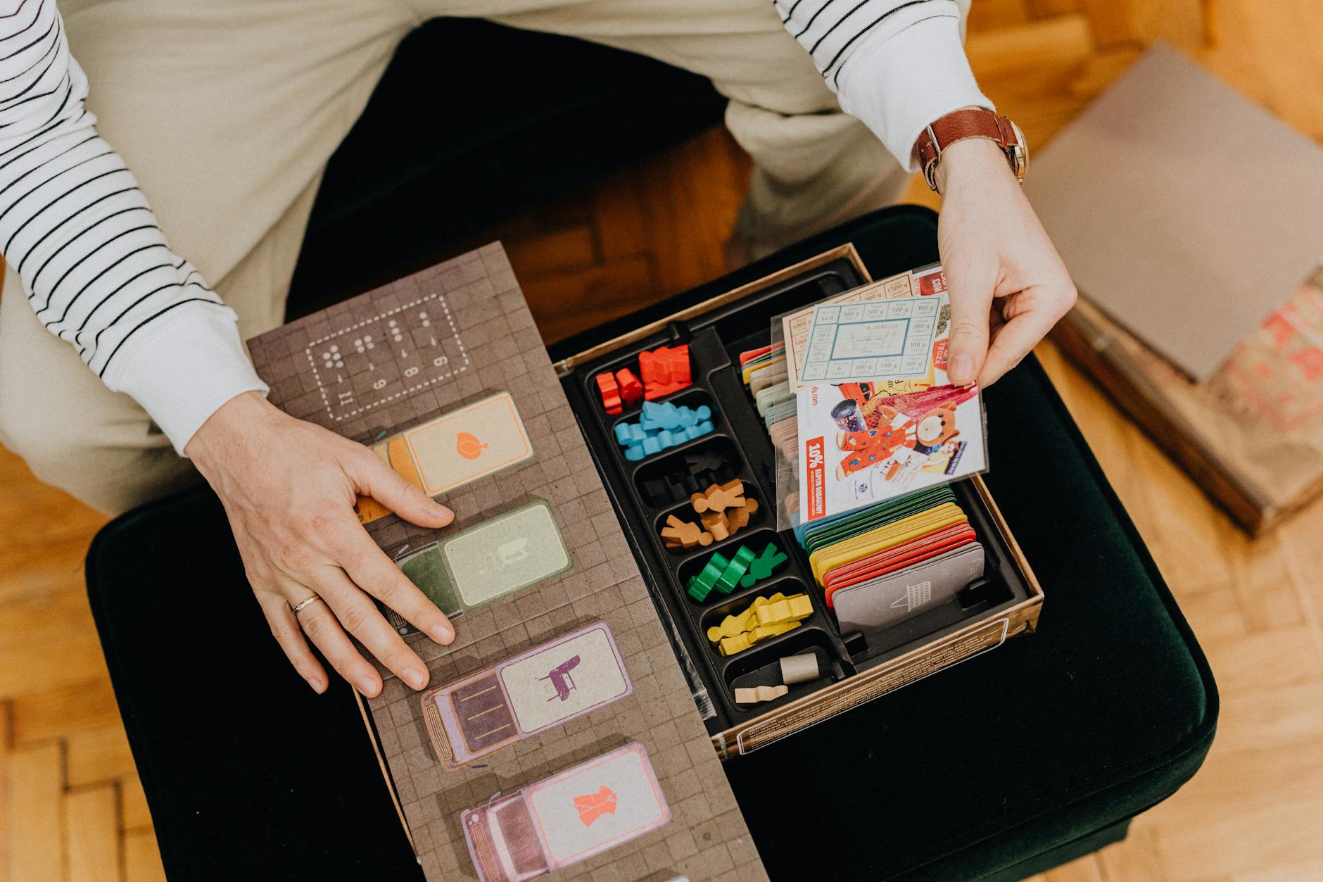
[[[1159,44],[1024,188],[1066,355],[1250,534],[1323,491],[1323,150]]]

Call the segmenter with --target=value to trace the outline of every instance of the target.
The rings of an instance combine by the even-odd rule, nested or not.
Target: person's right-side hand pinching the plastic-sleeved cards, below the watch
[[[947,375],[991,385],[1070,310],[1076,289],[1000,147],[986,138],[955,142],[938,160],[937,183],[951,298]]]

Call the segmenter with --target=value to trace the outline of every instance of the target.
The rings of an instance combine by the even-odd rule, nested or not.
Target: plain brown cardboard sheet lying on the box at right
[[[1081,295],[1195,381],[1323,253],[1323,150],[1163,44],[1035,152],[1024,192]]]

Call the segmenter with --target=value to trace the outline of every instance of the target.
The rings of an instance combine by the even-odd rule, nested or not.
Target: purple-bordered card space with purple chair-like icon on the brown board
[[[634,693],[605,621],[540,644],[422,697],[423,720],[450,769]]]

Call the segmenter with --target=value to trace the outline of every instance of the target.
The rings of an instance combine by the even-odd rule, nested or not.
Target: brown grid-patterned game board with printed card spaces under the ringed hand
[[[482,756],[446,768],[422,695],[378,666],[385,687],[366,703],[426,877],[476,878],[462,813],[500,792],[507,796],[491,810],[471,817],[492,816],[521,793],[538,822],[560,818],[564,826],[540,840],[545,856],[538,852],[544,870],[564,866],[560,878],[590,878],[606,866],[619,878],[766,878],[500,245],[287,324],[249,348],[273,404],[372,446],[406,477],[415,470],[454,509],[455,523],[429,530],[360,503],[373,539],[397,560],[421,562],[410,575],[431,573],[458,609],[451,646],[406,637],[427,662],[431,687],[487,669],[512,671],[521,660],[546,667],[519,681],[545,694],[509,699],[528,718],[523,736],[492,750],[468,744]],[[542,645],[599,621],[618,656],[585,644],[576,665],[548,666]],[[593,698],[590,706],[557,711],[558,702],[578,701],[576,691]],[[533,705],[546,710],[528,710]],[[561,777],[627,747],[630,756],[643,752],[660,789],[648,807],[618,805],[642,792],[636,783],[603,801],[595,783],[579,793],[578,777]],[[560,789],[579,803],[546,801],[558,799],[554,784],[564,780],[572,785]],[[628,837],[607,837],[631,818]]]

